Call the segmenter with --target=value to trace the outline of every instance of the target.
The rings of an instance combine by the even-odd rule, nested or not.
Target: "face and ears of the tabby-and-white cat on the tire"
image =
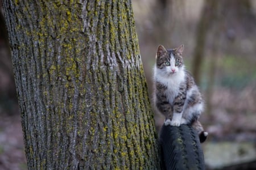
[[[164,46],[158,46],[158,52],[156,53],[156,67],[158,73],[163,76],[170,76],[178,74],[179,71],[183,71],[183,45],[179,48],[166,50]]]

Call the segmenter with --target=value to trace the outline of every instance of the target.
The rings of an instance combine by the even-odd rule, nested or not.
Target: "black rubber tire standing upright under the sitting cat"
[[[163,125],[160,147],[163,169],[205,169],[199,136],[191,126]]]

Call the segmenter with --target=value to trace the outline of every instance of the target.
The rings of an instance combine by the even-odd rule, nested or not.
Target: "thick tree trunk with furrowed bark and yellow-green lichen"
[[[28,169],[158,169],[131,1],[3,7]]]

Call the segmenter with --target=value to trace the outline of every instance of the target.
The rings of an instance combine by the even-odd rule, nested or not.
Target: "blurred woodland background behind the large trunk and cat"
[[[151,95],[159,44],[184,44],[183,58],[204,95],[200,121],[207,169],[256,169],[256,1],[133,0]],[[0,1],[0,169],[27,169],[20,113]],[[155,115],[156,128],[163,116]]]

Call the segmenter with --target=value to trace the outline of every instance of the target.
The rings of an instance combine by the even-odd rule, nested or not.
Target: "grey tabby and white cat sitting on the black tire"
[[[193,77],[185,70],[183,48],[166,50],[159,45],[154,67],[153,103],[156,111],[162,113],[166,120],[164,125],[191,125],[204,142],[208,133],[199,122],[204,111],[204,101]]]

